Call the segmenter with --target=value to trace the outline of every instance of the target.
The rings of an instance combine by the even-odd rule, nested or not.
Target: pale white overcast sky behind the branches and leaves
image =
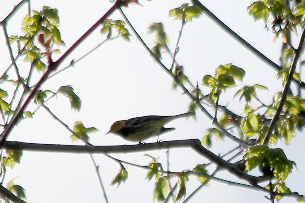
[[[246,8],[253,1],[201,1],[208,9],[218,16],[231,29],[236,31],[246,41],[260,50],[271,60],[278,63],[281,40],[273,41],[273,34],[263,30],[264,23],[254,23],[248,16]],[[0,20],[4,19],[13,6],[19,1],[1,1]],[[153,36],[147,34],[147,27],[153,22],[162,22],[169,38],[170,48],[174,50],[180,30],[180,21],[173,21],[168,17],[170,9],[179,7],[186,1],[140,1],[141,5],[130,5],[123,11],[142,36],[144,41],[153,47]],[[39,11],[42,6],[50,6],[59,10],[61,20],[60,32],[66,47],[61,48],[65,52],[74,42],[87,31],[111,6],[108,1],[88,0],[81,1],[31,1],[31,9]],[[18,13],[8,22],[9,35],[22,35],[20,31],[21,21],[27,14],[27,5],[24,5]],[[121,19],[116,11],[111,17],[113,20]],[[100,28],[99,28],[100,29]],[[74,51],[59,67],[62,69],[72,59],[78,59],[97,44],[105,39],[96,30]],[[130,30],[130,29],[129,29]],[[130,30],[131,31],[131,30]],[[133,33],[131,33],[133,35]],[[299,32],[299,35],[300,32]],[[1,42],[1,67],[0,73],[9,66],[10,59],[8,49],[3,38]],[[298,41],[295,41],[296,44]],[[201,83],[205,74],[214,74],[215,68],[220,64],[233,63],[246,70],[243,85],[259,83],[266,86],[269,91],[259,92],[260,99],[265,103],[272,101],[272,96],[277,91],[282,91],[281,81],[275,79],[276,71],[265,65],[253,56],[247,49],[239,45],[216,24],[203,15],[199,20],[194,20],[185,26],[182,35],[180,51],[177,56],[179,64],[185,67],[185,74],[196,84]],[[54,56],[54,59],[60,55]],[[167,66],[170,65],[168,56],[164,53]],[[20,63],[20,71],[24,76],[29,64]],[[24,67],[24,70],[22,69]],[[41,74],[36,74],[38,79]],[[14,78],[13,72],[11,77]],[[54,92],[60,86],[74,85],[75,93],[82,100],[81,111],[70,111],[68,99],[59,95],[46,103],[51,111],[63,122],[73,128],[75,121],[82,121],[85,127],[96,127],[98,133],[91,134],[90,143],[93,145],[120,145],[135,144],[121,139],[118,136],[107,135],[110,125],[117,120],[133,118],[145,115],[174,115],[185,113],[190,101],[182,94],[181,90],[172,89],[172,79],[152,60],[138,40],[131,36],[131,42],[117,39],[107,42],[101,48],[90,54],[84,60],[56,77],[48,80],[42,88]],[[9,89],[0,86],[2,89]],[[203,93],[208,89],[200,86]],[[238,99],[232,100],[237,89],[227,91],[221,98],[222,105],[228,105],[231,110],[242,113],[244,103]],[[32,111],[36,107],[33,104],[27,110]],[[211,111],[212,112],[212,111]],[[179,119],[167,125],[176,130],[163,136],[163,140],[202,139],[205,129],[210,128],[209,121],[203,114],[197,112],[197,120]],[[9,136],[8,140],[33,143],[71,144],[70,132],[55,121],[44,109],[40,109],[33,119],[22,121]],[[155,142],[156,138],[146,142]],[[301,154],[303,135],[298,134],[292,140],[290,146],[279,144],[273,147],[284,147],[287,158],[296,162],[298,170],[287,180],[287,186],[294,191],[302,192],[304,187],[304,158]],[[82,144],[81,142],[76,144]],[[236,147],[229,140],[214,141],[212,151],[215,154],[224,154]],[[149,154],[160,157],[166,169],[166,150],[155,150],[143,153],[112,154],[114,157],[139,165],[148,165],[150,159],[143,157]],[[153,202],[154,181],[145,180],[147,171],[133,166],[125,165],[129,177],[123,185],[116,189],[109,186],[116,175],[119,165],[106,158],[104,155],[94,155],[99,165],[103,183],[109,202]],[[189,149],[170,150],[170,170],[180,172],[192,169],[197,164],[209,161]],[[213,172],[214,167],[208,168]],[[28,202],[104,202],[101,187],[95,173],[94,165],[87,154],[63,154],[23,152],[22,162],[13,170],[8,170],[4,181],[6,183],[20,177],[17,181],[27,192]],[[227,172],[220,172],[217,177],[241,182]],[[266,183],[267,184],[267,183]],[[188,183],[187,196],[194,191],[200,183],[195,177],[191,177]],[[222,183],[210,182],[203,188],[191,202],[268,202],[262,192],[240,189]],[[283,202],[295,202],[293,198],[284,198]]]

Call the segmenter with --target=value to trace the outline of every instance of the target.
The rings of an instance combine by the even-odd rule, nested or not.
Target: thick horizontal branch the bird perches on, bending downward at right
[[[23,142],[4,142],[3,147],[9,150],[29,150],[43,152],[65,152],[76,154],[108,154],[108,153],[128,153],[148,150],[160,150],[170,148],[189,147],[195,150],[198,154],[215,163],[218,167],[227,169],[233,175],[244,179],[252,185],[267,180],[265,176],[250,176],[239,170],[234,164],[223,160],[216,154],[204,148],[198,139],[192,140],[174,140],[149,144],[137,145],[118,145],[118,146],[80,146],[80,145],[56,145],[56,144],[35,144]]]

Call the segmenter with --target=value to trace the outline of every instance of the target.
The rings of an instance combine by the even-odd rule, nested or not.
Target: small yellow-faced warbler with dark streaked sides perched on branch
[[[195,115],[195,112],[175,116],[142,116],[124,121],[116,121],[111,125],[109,132],[106,134],[112,132],[123,137],[125,140],[141,143],[152,136],[159,136],[174,130],[175,128],[164,128],[163,126],[170,121],[192,115]]]

